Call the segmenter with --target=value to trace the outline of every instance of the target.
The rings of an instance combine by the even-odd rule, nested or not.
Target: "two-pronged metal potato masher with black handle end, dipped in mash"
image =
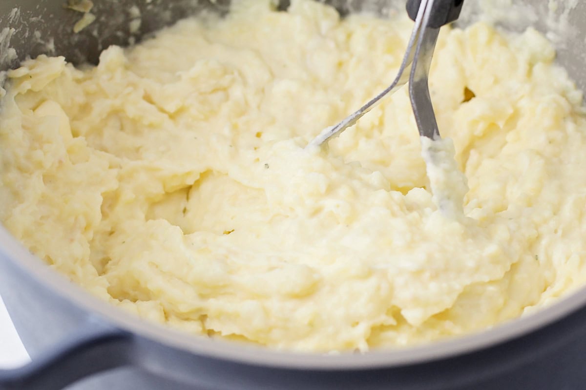
[[[312,140],[308,147],[321,146],[339,136],[369,112],[385,96],[409,82],[409,96],[415,121],[422,137],[439,139],[437,121],[431,104],[428,75],[440,28],[458,19],[464,0],[408,0],[407,13],[415,21],[397,77],[389,88],[347,116],[342,122],[328,127]]]

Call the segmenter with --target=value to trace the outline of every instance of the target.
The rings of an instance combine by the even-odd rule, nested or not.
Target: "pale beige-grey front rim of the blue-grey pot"
[[[131,315],[131,313],[91,295],[90,292],[69,281],[64,275],[52,270],[40,258],[22,246],[0,224],[1,261],[10,261],[56,295],[67,299],[88,313],[98,314],[111,324],[138,336],[200,356],[272,368],[362,370],[364,368],[391,368],[427,363],[471,353],[515,339],[547,326],[586,305],[586,287],[582,287],[546,308],[509,320],[491,329],[465,336],[413,347],[401,347],[396,350],[369,351],[363,354],[297,353],[271,350],[262,346],[250,346],[235,341],[198,337]]]

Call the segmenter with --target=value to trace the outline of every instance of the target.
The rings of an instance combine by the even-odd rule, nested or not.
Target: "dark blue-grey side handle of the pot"
[[[29,364],[0,370],[0,390],[59,390],[101,371],[132,364],[134,336],[90,318]]]

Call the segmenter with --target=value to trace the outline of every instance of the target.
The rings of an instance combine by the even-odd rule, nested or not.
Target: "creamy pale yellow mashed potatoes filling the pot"
[[[114,305],[274,348],[422,343],[580,287],[582,95],[536,31],[440,36],[431,95],[462,218],[434,201],[406,89],[304,149],[390,84],[411,27],[255,0],[97,67],[26,61],[2,100],[0,220]]]

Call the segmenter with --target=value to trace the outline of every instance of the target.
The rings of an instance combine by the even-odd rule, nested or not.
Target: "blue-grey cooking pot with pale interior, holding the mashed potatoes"
[[[81,13],[65,9],[64,2],[0,2],[0,71],[42,53],[95,63],[111,44],[127,45],[179,18],[204,9],[225,13],[229,6],[224,0],[94,0],[96,22],[73,34]],[[395,12],[386,0],[331,4],[342,15]],[[459,23],[478,18],[482,4],[468,0]],[[548,0],[498,4],[485,15],[507,28],[547,30],[558,45],[558,61],[586,87],[586,2],[560,1],[557,8]],[[129,22],[137,18],[140,29],[131,31]],[[32,357],[24,367],[0,371],[0,389],[51,390],[74,382],[71,389],[110,390],[549,390],[586,384],[586,288],[485,332],[424,346],[287,353],[190,336],[121,312],[51,270],[0,226],[0,294]]]

